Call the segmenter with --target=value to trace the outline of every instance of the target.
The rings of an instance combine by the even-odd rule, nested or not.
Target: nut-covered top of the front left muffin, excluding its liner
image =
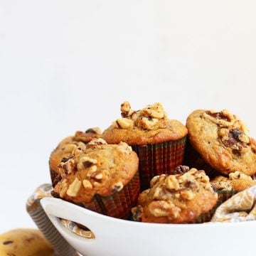
[[[126,143],[107,144],[93,139],[85,150],[74,149],[60,162],[61,179],[54,188],[60,198],[90,203],[95,194],[110,196],[121,191],[138,170],[137,154]]]

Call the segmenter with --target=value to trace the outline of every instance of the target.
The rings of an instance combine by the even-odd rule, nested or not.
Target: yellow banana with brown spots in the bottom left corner
[[[39,230],[15,229],[0,235],[1,256],[53,256],[53,247]]]

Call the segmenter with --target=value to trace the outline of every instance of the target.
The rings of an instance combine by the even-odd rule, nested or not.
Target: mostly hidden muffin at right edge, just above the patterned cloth
[[[218,206],[228,200],[231,196],[235,195],[235,193],[256,185],[255,180],[239,171],[230,173],[228,177],[216,176],[210,183],[215,192],[218,193]]]

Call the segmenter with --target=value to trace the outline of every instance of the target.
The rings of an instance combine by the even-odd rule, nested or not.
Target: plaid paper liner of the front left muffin
[[[127,219],[132,207],[136,206],[139,196],[139,172],[134,174],[121,191],[110,196],[95,195],[90,203],[79,203],[79,206],[114,218]]]

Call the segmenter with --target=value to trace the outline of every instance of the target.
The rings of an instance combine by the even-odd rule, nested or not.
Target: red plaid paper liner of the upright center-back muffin
[[[139,157],[139,179],[141,191],[149,188],[151,178],[161,174],[172,174],[183,164],[186,136],[173,142],[132,146]]]

